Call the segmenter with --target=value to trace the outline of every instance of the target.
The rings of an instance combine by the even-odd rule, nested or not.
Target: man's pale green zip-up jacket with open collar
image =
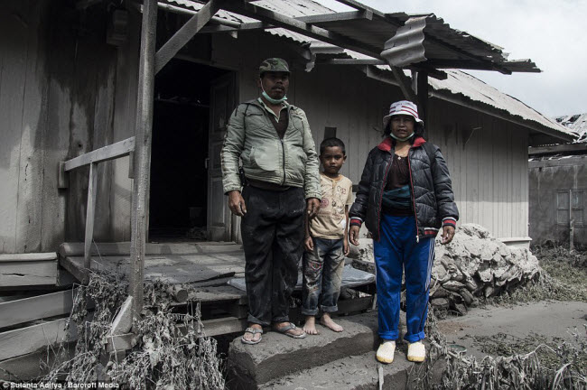
[[[257,100],[234,110],[221,153],[224,193],[242,188],[241,158],[247,179],[303,187],[306,199],[321,199],[320,162],[308,119],[301,108],[289,104],[287,114],[289,124],[280,139],[270,114]]]

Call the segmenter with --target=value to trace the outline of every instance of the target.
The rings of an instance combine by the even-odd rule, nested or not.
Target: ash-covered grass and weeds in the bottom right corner
[[[486,356],[481,360],[464,357],[449,347],[436,328],[432,311],[426,324],[431,350],[423,365],[410,372],[410,386],[418,390],[469,389],[587,389],[587,327],[573,332],[573,342],[546,343],[509,356]],[[488,351],[512,351],[496,347]],[[443,368],[440,379],[433,379],[433,367]]]

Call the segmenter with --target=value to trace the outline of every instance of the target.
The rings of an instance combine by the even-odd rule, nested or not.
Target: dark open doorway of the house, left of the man
[[[226,73],[174,59],[157,74],[150,241],[206,239],[210,82]]]

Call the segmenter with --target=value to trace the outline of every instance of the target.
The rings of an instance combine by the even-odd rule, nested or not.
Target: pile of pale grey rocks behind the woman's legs
[[[353,265],[374,272],[372,240],[362,239]],[[466,224],[446,246],[436,240],[430,283],[431,303],[436,309],[467,312],[480,297],[489,298],[537,281],[542,269],[526,248],[507,246],[491,237],[486,228]]]

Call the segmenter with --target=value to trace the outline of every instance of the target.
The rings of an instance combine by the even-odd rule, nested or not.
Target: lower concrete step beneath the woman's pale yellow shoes
[[[299,373],[283,376],[260,385],[263,390],[366,390],[379,388],[379,367],[383,376],[383,386],[386,390],[405,389],[408,372],[415,363],[405,358],[406,347],[399,344],[396,357],[390,365],[378,363],[375,351],[369,351],[359,356],[344,357],[313,367]]]

